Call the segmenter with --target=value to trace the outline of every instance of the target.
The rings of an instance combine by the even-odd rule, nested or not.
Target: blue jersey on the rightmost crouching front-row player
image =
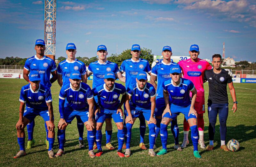
[[[191,97],[189,91],[195,88],[191,80],[180,78],[180,84],[173,85],[172,80],[167,80],[163,83],[164,91],[169,93],[169,101],[180,107],[187,107],[191,104]]]

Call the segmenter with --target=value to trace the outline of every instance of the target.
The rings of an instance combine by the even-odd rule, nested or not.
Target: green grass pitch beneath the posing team
[[[132,129],[131,151],[132,156],[128,158],[119,158],[116,150],[110,151],[103,147],[103,155],[91,159],[88,156],[88,143],[86,140],[87,132],[84,132],[86,148],[78,147],[78,132],[76,127],[76,119],[66,130],[65,154],[61,157],[49,159],[45,149],[45,129],[43,118],[35,119],[36,126],[34,130],[34,138],[36,140],[35,147],[27,150],[27,155],[19,159],[14,156],[19,150],[17,143],[17,133],[15,129],[16,122],[19,118],[19,97],[20,89],[27,84],[21,79],[0,79],[0,166],[256,166],[256,84],[234,83],[236,88],[236,96],[238,101],[238,110],[233,113],[231,111],[233,101],[228,91],[229,98],[229,116],[227,121],[228,131],[226,142],[230,139],[236,139],[240,143],[240,149],[237,152],[224,152],[220,149],[220,133],[219,121],[216,124],[216,133],[214,140],[214,150],[209,152],[199,148],[201,159],[193,156],[193,146],[176,151],[173,149],[174,140],[171,134],[170,126],[168,126],[168,154],[160,157],[148,156],[148,150],[141,150],[139,147],[140,132],[139,121],[136,121]],[[88,81],[91,86],[92,81]],[[58,95],[60,87],[57,82],[52,85],[53,110],[55,116],[55,126],[58,125],[60,118],[58,107]],[[208,84],[205,83],[205,102],[208,98]],[[207,103],[205,105],[207,109]],[[205,131],[204,139],[206,145],[208,140],[208,117],[204,114]],[[113,122],[113,121],[112,121]],[[183,140],[183,116],[178,117],[180,128],[180,144]],[[104,124],[105,126],[105,124]],[[102,129],[105,130],[105,127]],[[27,128],[26,128],[27,130]],[[26,132],[25,130],[25,132]],[[105,131],[103,133],[102,145],[106,142]],[[54,153],[58,150],[57,129],[55,129],[56,137],[54,143]],[[117,147],[117,129],[113,124],[112,144]],[[190,143],[190,133],[189,133]],[[27,145],[27,132],[26,132]],[[148,128],[145,135],[145,144],[148,144]],[[160,137],[157,138],[156,152],[162,148]]]

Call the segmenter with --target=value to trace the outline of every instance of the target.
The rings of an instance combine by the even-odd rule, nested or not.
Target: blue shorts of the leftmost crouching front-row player
[[[23,117],[28,118],[28,120],[31,122],[38,115],[41,116],[44,119],[44,122],[50,121],[50,116],[49,116],[49,111],[48,110],[34,110],[32,108],[27,108],[26,107],[26,110],[24,110]]]

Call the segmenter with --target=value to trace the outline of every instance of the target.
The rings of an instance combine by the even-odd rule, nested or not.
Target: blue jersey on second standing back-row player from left
[[[68,59],[60,62],[60,64],[58,65],[57,72],[58,74],[62,75],[63,85],[70,83],[69,76],[71,71],[79,71],[81,75],[85,75],[86,74],[85,64],[82,61],[77,59],[75,59],[72,62],[68,61]]]

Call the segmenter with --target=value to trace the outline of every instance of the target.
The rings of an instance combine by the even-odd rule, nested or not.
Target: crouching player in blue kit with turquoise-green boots
[[[164,109],[163,118],[160,125],[160,136],[163,148],[157,153],[157,156],[167,153],[167,126],[180,113],[184,114],[188,120],[191,129],[191,139],[194,146],[194,156],[201,158],[198,152],[198,130],[196,125],[196,110],[194,105],[196,101],[196,89],[193,82],[180,78],[181,69],[178,65],[173,65],[170,70],[171,80],[163,83],[163,94],[166,108]],[[189,97],[189,91],[192,92],[192,100]]]

